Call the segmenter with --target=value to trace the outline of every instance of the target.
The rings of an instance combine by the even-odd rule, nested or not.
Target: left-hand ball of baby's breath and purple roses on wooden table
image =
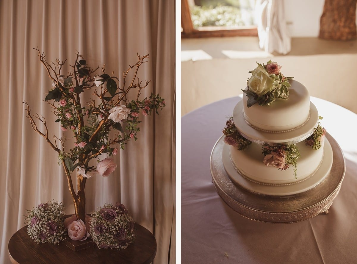
[[[39,204],[32,210],[26,210],[25,224],[27,234],[34,239],[37,244],[53,243],[59,244],[65,239],[66,229],[64,227],[64,206],[57,201],[48,201]]]

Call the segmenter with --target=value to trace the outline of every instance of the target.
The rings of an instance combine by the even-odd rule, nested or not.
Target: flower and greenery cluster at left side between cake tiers
[[[238,132],[236,126],[233,123],[233,117],[227,120],[226,126],[222,132],[225,135],[223,141],[228,145],[236,147],[237,150],[245,150],[250,144],[252,144],[252,141],[244,138]]]

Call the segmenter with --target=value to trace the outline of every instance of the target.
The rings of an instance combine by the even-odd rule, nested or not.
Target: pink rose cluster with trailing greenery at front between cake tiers
[[[269,146],[263,145],[263,162],[267,166],[278,168],[279,170],[289,169],[291,164],[294,168],[295,179],[297,179],[297,159],[300,158],[300,151],[295,144]]]

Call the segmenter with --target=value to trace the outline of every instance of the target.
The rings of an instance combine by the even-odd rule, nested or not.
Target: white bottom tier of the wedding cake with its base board
[[[331,170],[333,153],[330,143],[314,150],[305,143],[297,143],[301,158],[297,160],[297,179],[292,166],[282,171],[266,166],[261,154],[262,146],[252,143],[239,151],[225,145],[222,159],[231,180],[254,193],[267,195],[290,195],[307,191],[319,184]]]

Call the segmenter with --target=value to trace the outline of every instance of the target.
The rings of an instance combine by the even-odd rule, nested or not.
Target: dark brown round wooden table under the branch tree
[[[59,245],[37,244],[27,234],[27,226],[18,230],[9,240],[9,258],[12,263],[151,263],[156,255],[156,239],[149,230],[135,224],[135,242],[127,249],[89,248],[73,251],[62,241]]]

